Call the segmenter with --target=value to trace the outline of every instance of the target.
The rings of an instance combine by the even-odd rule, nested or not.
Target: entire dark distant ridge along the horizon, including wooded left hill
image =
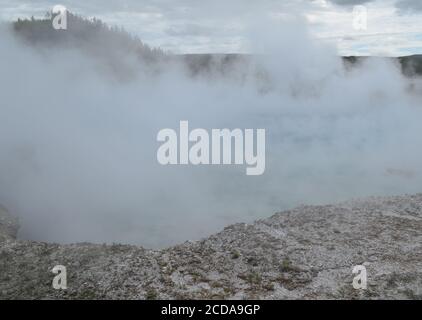
[[[19,38],[34,46],[77,48],[99,60],[104,60],[113,69],[122,68],[122,57],[133,54],[141,61],[162,62],[163,60],[181,61],[190,75],[200,74],[230,75],[233,70],[246,69],[251,61],[248,54],[183,54],[169,55],[163,50],[151,48],[138,37],[132,36],[122,28],[109,27],[99,19],[84,19],[68,13],[68,29],[55,30],[52,27],[52,14],[44,19],[18,19],[13,29]],[[343,57],[345,64],[354,66],[368,57]],[[422,75],[422,55],[399,58],[402,71],[406,76]],[[126,66],[130,68],[130,66]],[[124,68],[123,68],[124,69]],[[119,70],[120,71],[120,70]]]

